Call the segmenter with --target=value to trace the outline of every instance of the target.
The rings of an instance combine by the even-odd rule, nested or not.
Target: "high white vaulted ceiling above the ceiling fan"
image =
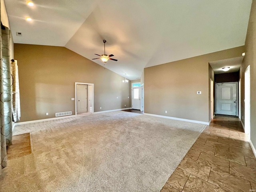
[[[105,67],[134,80],[145,67],[244,45],[252,0],[5,2],[15,43],[65,46],[92,59],[105,39],[106,54],[118,59]]]

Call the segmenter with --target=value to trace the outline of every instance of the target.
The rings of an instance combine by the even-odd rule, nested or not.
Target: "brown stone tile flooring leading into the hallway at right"
[[[256,191],[256,158],[234,116],[216,115],[161,192]]]

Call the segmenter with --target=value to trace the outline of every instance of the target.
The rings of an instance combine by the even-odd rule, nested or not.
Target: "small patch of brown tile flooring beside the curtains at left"
[[[7,148],[7,159],[19,158],[31,153],[30,133],[12,136],[12,145]]]

